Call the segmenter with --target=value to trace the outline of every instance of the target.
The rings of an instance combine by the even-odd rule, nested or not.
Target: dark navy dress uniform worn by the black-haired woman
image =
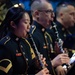
[[[35,74],[35,53],[24,38],[9,33],[0,40],[0,75]]]

